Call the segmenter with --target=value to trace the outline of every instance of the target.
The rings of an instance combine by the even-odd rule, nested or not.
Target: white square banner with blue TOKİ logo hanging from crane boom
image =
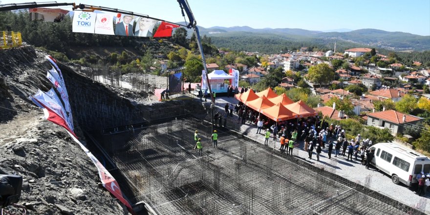
[[[94,34],[94,25],[96,22],[96,13],[75,11],[73,15],[72,31],[78,33]]]

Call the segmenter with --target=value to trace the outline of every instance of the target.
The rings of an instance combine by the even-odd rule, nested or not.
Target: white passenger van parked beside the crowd
[[[370,164],[390,175],[394,184],[402,182],[410,187],[418,183],[418,173],[430,173],[430,159],[414,150],[394,143],[378,143],[372,149],[375,152]]]

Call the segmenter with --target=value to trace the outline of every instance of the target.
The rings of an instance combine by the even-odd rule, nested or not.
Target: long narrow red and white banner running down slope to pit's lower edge
[[[109,173],[109,171],[100,163],[100,161],[88,150],[82,143],[73,135],[70,135],[72,139],[79,144],[82,150],[85,151],[86,155],[91,159],[91,161],[94,163],[94,165],[97,167],[97,170],[99,172],[100,180],[103,183],[103,187],[106,188],[106,190],[109,191],[109,193],[113,194],[116,198],[118,198],[128,209],[131,214],[135,214],[133,211],[133,208],[131,207],[129,201],[127,201],[123,193],[121,192],[121,189],[119,188],[118,182],[115,180],[115,178]]]

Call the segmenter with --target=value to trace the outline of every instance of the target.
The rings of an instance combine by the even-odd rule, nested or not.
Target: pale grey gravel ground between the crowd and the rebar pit
[[[221,97],[216,99],[216,106],[220,109],[224,109],[224,105],[227,102],[233,103],[233,104],[238,103],[238,101],[234,98]],[[234,117],[237,117],[237,115],[235,115]],[[241,131],[249,138],[258,140],[261,144],[264,144],[264,135],[256,134],[257,127],[255,125],[250,125],[250,124],[242,125]],[[332,139],[328,139],[328,140],[332,140]],[[321,165],[323,165],[324,167],[327,167],[327,169],[332,168],[330,167],[330,160],[328,159],[328,156],[327,156],[327,149],[323,149],[323,152],[320,154],[320,161],[317,161],[316,152],[314,151],[312,159],[309,159],[307,151],[303,150],[303,145],[304,143],[303,141],[301,141],[300,147],[299,147],[299,157],[301,159],[313,165],[318,165],[320,167]],[[278,150],[279,148],[280,148],[280,142],[278,138],[278,141],[275,143],[275,149]],[[333,153],[331,157],[332,159],[334,158]],[[377,191],[379,193],[382,193],[384,195],[387,195],[393,199],[396,199],[410,206],[415,206],[422,198],[426,198],[426,199],[428,198],[428,197],[418,196],[414,192],[415,189],[410,189],[406,185],[403,185],[403,184],[396,185],[392,183],[391,178],[387,174],[383,172],[378,172],[376,168],[372,168],[369,170],[366,169],[365,166],[362,166],[360,164],[360,157],[358,158],[358,161],[354,161],[354,159],[353,161],[347,161],[346,156],[340,156],[340,157],[338,156],[336,174],[341,175],[342,177],[347,178],[351,181],[360,181],[362,185],[365,184],[366,176],[371,175],[370,189]],[[426,214],[428,214],[429,212],[430,212],[430,204],[427,204]]]

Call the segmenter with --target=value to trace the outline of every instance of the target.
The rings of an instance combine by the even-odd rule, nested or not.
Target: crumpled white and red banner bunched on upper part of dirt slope
[[[55,99],[55,96],[57,94],[55,92],[52,93],[52,91],[50,92],[50,95],[54,96],[54,98],[51,98],[50,95],[46,94],[45,92],[39,89],[39,91],[34,96],[30,96],[30,99],[34,102],[34,104],[36,104],[40,108],[43,108],[45,119],[59,126],[64,127],[70,133],[75,135],[73,130],[70,129],[70,125],[67,122],[68,120],[66,120],[67,116],[63,106],[61,105],[61,103],[58,104],[59,102],[58,97],[57,99]]]

